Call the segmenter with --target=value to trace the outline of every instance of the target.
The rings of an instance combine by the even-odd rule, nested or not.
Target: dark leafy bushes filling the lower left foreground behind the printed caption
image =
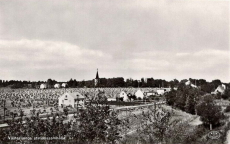
[[[115,143],[120,137],[120,120],[108,105],[99,103],[98,100],[91,100],[86,104],[86,108],[79,110],[70,121],[58,114],[46,119],[40,118],[39,115],[12,119],[8,121],[7,129],[0,130],[0,143]],[[67,116],[66,113],[65,115]],[[15,137],[21,139],[13,140]],[[37,139],[42,137],[58,139]]]

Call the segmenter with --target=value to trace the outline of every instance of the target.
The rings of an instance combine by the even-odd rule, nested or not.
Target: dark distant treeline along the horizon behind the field
[[[192,84],[198,86],[201,90],[205,92],[214,91],[222,82],[218,79],[211,82],[205,79],[188,79]],[[178,81],[177,79],[166,81],[164,79],[153,79],[153,78],[142,78],[141,80],[126,79],[123,77],[118,78],[100,78],[98,87],[178,87],[179,83],[188,81],[187,79]],[[16,88],[39,88],[42,83],[46,83],[48,88],[53,88],[56,83],[67,83],[69,88],[77,87],[95,87],[94,80],[88,81],[77,81],[76,79],[70,79],[67,82],[58,82],[56,80],[48,79],[47,81],[17,81],[17,80],[0,80],[0,87],[10,87]],[[229,88],[230,83],[224,83]]]

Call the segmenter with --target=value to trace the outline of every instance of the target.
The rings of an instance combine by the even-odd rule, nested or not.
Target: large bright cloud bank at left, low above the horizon
[[[98,50],[90,50],[66,42],[40,41],[40,40],[0,40],[2,74],[16,77],[23,73],[35,78],[38,71],[46,72],[36,79],[48,78],[59,74],[60,71],[77,69],[85,70],[97,63],[109,59],[109,55]],[[28,74],[27,72],[31,73]],[[56,72],[54,72],[56,71]],[[23,79],[22,78],[22,79]],[[28,77],[27,77],[28,78]],[[27,79],[26,78],[26,79]]]

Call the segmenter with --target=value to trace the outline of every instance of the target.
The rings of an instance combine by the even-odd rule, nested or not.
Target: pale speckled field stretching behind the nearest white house
[[[68,88],[68,89],[0,89],[0,103],[4,107],[1,100],[6,100],[6,116],[5,119],[11,119],[13,115],[23,115],[30,117],[33,112],[39,112],[40,115],[63,112],[63,108],[58,107],[58,98],[66,92],[80,92],[90,98],[96,97],[98,93],[102,93],[107,98],[119,97],[121,91],[135,94],[138,88]],[[142,92],[156,90],[156,88],[141,88]],[[111,107],[139,105],[143,102],[107,102]],[[76,111],[75,108],[70,111]],[[3,120],[4,110],[0,109],[0,120]]]

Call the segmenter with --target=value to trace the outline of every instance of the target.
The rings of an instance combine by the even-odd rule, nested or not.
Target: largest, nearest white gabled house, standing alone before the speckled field
[[[63,106],[72,106],[74,108],[78,107],[84,107],[85,105],[85,97],[80,94],[79,92],[73,92],[73,93],[64,93],[58,98],[58,105]]]

